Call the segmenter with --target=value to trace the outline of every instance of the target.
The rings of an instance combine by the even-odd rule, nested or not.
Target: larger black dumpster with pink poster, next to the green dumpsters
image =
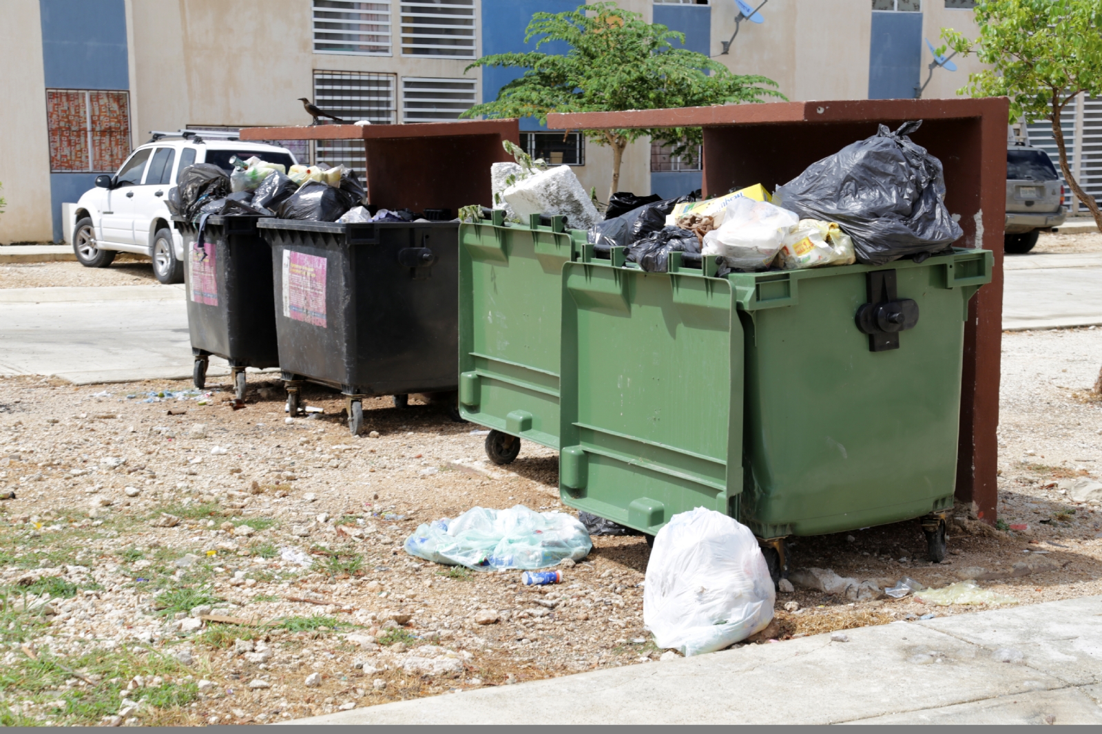
[[[262,219],[271,246],[279,366],[291,415],[303,380],[341,390],[348,428],[363,399],[454,392],[458,223]]]

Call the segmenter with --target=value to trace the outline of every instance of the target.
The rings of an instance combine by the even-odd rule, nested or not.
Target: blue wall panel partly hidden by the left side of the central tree
[[[483,0],[483,55],[523,53],[536,51],[536,39],[525,43],[525,29],[532,20],[532,13],[563,13],[575,10],[581,0]],[[570,51],[565,43],[547,43],[540,51],[548,54],[564,54]],[[483,101],[497,99],[498,90],[509,82],[523,76],[523,72],[512,68],[483,69]],[[525,118],[521,130],[544,130],[537,120]]]

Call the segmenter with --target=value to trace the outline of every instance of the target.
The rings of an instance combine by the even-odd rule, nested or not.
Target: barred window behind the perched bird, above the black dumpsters
[[[314,72],[314,104],[346,122],[367,120],[371,125],[395,121],[395,75],[365,72]],[[347,165],[363,175],[367,166],[359,140],[318,140],[314,161]]]

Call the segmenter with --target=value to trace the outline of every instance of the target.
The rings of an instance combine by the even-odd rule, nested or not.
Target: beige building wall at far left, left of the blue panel
[[[2,0],[0,69],[0,242],[53,239],[50,213],[50,142],[39,0]]]

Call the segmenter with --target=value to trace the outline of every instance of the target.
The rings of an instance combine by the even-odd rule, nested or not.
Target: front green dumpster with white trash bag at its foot
[[[648,535],[728,512],[776,578],[787,536],[909,518],[943,555],[991,251],[722,278],[685,261],[644,272],[585,246],[563,267],[562,500]]]

